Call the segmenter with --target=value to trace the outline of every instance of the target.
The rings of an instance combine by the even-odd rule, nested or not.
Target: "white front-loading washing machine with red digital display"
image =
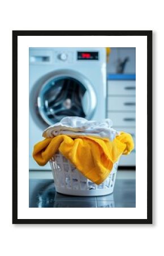
[[[29,48],[29,170],[33,146],[66,116],[106,118],[105,48]]]

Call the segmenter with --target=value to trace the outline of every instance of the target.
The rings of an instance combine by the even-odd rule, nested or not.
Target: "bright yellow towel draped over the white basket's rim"
[[[109,176],[120,155],[130,154],[133,147],[131,135],[123,132],[114,141],[58,135],[38,142],[33,149],[33,158],[40,166],[44,166],[59,150],[85,177],[101,184]]]

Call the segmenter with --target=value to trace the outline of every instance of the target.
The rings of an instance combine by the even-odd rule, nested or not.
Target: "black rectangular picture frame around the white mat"
[[[12,31],[12,224],[152,224],[152,31]],[[146,36],[147,218],[18,219],[18,36]]]

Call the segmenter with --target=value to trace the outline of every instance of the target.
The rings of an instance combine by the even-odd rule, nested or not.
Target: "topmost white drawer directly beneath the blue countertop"
[[[110,95],[125,95],[125,96],[135,96],[136,95],[136,81],[113,81],[109,80],[107,82],[107,94]]]

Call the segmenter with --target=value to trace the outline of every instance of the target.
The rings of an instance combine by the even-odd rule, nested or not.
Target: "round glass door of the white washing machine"
[[[66,116],[91,119],[96,109],[96,94],[90,81],[79,72],[56,71],[40,84],[35,105],[40,121],[46,126]]]

